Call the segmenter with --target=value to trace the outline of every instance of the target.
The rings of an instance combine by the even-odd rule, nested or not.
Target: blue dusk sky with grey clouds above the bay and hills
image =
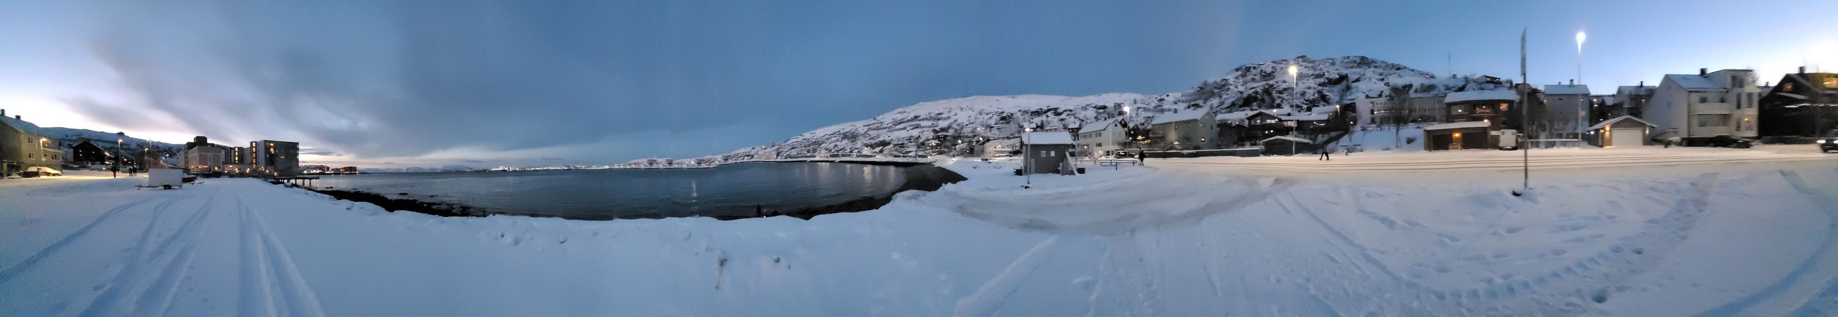
[[[605,165],[950,97],[1186,92],[1298,55],[1516,79],[1520,31],[1535,84],[1779,81],[1838,71],[1834,15],[1831,0],[0,0],[0,108],[167,143],[300,141],[323,165]]]

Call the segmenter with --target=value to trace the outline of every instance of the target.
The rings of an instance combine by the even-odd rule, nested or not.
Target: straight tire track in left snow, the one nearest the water
[[[274,238],[261,213],[241,196],[235,202],[243,224],[237,315],[323,317],[316,291],[300,277],[292,257]]]

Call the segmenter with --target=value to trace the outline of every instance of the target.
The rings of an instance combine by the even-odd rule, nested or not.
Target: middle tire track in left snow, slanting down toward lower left
[[[219,189],[219,192],[221,191],[222,189]],[[123,260],[121,271],[116,271],[116,277],[110,279],[108,288],[92,299],[90,306],[77,315],[145,315],[132,312],[140,306],[140,301],[151,299],[149,295],[158,293],[162,286],[171,288],[167,284],[176,284],[173,275],[175,271],[182,271],[184,266],[191,262],[191,251],[197,249],[199,235],[202,233],[202,229],[197,227],[210,214],[210,202],[215,202],[219,192],[211,192],[199,211],[186,216],[186,222],[173,227],[169,235],[160,238],[160,242],[153,247],[147,247],[147,242],[153,238],[140,240],[140,246],[134,247],[134,255]],[[153,220],[147,222],[147,229],[143,233],[156,231],[160,227],[160,218],[171,213],[171,205],[176,202],[180,200],[169,200],[154,205],[151,216]],[[180,244],[180,240],[186,242]],[[171,251],[171,247],[178,247],[178,251]],[[158,268],[158,271],[151,271],[153,268]],[[154,273],[153,280],[147,280],[145,275],[149,273]],[[134,301],[127,301],[125,297],[134,291],[140,291],[138,297],[134,297]]]

